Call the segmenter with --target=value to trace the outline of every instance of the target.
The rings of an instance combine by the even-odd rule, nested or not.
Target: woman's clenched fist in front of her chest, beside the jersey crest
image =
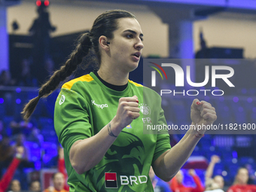
[[[112,123],[116,123],[120,131],[139,117],[139,101],[137,96],[119,99],[117,114]]]

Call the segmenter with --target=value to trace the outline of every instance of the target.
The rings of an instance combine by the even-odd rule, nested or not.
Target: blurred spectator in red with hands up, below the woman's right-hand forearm
[[[196,187],[185,187],[183,182],[183,172],[181,170],[178,171],[178,173],[175,175],[174,178],[172,178],[171,181],[169,181],[169,186],[171,187],[171,190],[173,192],[203,192],[204,187],[201,184],[200,178],[196,175],[196,172],[194,169],[189,169],[188,174],[192,176],[194,179],[194,182],[196,184]]]

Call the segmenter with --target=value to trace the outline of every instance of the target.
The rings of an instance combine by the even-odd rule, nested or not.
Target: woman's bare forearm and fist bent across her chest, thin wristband
[[[137,96],[121,98],[117,115],[95,136],[79,140],[72,145],[69,152],[70,162],[78,174],[93,168],[102,160],[108,148],[124,127],[139,117]]]

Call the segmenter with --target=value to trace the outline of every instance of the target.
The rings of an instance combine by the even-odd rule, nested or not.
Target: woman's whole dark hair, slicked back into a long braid
[[[90,50],[94,50],[100,66],[101,55],[99,52],[99,37],[105,35],[108,39],[114,38],[113,32],[118,28],[117,19],[126,17],[136,18],[130,12],[123,10],[106,11],[96,18],[90,32],[84,33],[81,35],[81,38],[79,38],[78,45],[70,54],[70,58],[66,61],[65,65],[61,66],[59,70],[53,73],[50,79],[41,86],[38,96],[31,99],[23,108],[21,113],[24,114],[25,120],[28,120],[33,111],[35,111],[39,99],[41,97],[45,98],[49,96],[57,87],[59,87],[61,81],[65,81],[66,78],[72,75],[72,72],[75,72],[75,69],[81,64],[82,60],[87,56]]]

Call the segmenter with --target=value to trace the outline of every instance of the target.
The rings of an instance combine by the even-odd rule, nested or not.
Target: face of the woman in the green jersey
[[[123,72],[131,72],[137,68],[144,47],[142,29],[134,18],[118,19],[117,26],[108,44],[111,64]]]

